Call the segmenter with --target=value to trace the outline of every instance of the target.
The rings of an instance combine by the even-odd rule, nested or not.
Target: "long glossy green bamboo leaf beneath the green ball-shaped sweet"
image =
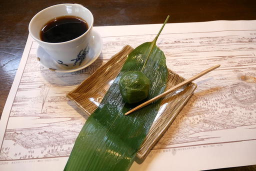
[[[124,113],[137,104],[122,100],[118,82],[123,73],[138,70],[151,82],[147,99],[164,91],[167,79],[165,56],[155,45],[162,28],[152,42],[145,42],[129,53],[100,105],[83,125],[64,170],[129,169],[157,114],[160,100],[126,116]]]

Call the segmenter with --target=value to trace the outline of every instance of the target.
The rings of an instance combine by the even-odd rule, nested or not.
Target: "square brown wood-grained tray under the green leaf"
[[[131,46],[125,45],[121,51],[113,55],[105,64],[101,65],[93,74],[81,82],[80,85],[68,92],[66,96],[73,100],[85,114],[90,115],[93,113],[109,86],[118,75],[127,54],[132,50],[133,48]],[[172,70],[168,69],[168,72],[167,89],[184,80],[183,77]],[[138,159],[143,160],[148,154],[153,145],[183,108],[196,86],[194,83],[189,83],[162,99],[155,120],[136,154]]]

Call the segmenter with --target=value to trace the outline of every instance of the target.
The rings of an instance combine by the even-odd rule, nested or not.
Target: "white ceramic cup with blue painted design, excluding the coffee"
[[[40,30],[55,17],[78,16],[88,24],[88,30],[69,41],[51,43],[40,40]],[[93,27],[92,13],[80,4],[64,3],[47,7],[33,16],[28,25],[29,34],[37,41],[46,53],[63,67],[74,68],[82,64],[89,50],[89,40]]]

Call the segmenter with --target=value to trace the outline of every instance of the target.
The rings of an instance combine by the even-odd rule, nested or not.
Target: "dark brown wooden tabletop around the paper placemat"
[[[22,56],[28,23],[38,11],[59,3],[91,10],[94,26],[256,19],[256,0],[1,0],[0,116]],[[256,170],[254,166],[214,170]]]

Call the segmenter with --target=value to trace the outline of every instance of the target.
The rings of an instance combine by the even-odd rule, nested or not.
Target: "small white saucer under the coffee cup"
[[[102,50],[102,38],[99,33],[92,29],[91,39],[89,41],[89,52],[86,54],[84,62],[81,66],[67,69],[61,64],[57,63],[52,59],[47,52],[41,46],[38,46],[36,51],[36,56],[39,62],[44,66],[49,68],[52,71],[56,72],[73,72],[87,67],[92,62],[94,62]]]

